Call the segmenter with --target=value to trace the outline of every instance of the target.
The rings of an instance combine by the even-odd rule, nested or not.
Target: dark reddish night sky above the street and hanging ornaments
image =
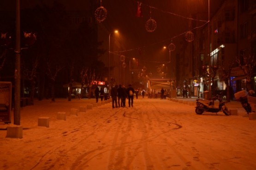
[[[51,4],[53,0],[20,0],[21,9],[36,4]],[[88,8],[89,0],[59,0],[67,10],[84,10]],[[100,2],[100,0],[98,0]],[[163,51],[163,46],[171,42],[179,49],[184,33],[191,29],[189,18],[202,14],[200,20],[208,20],[208,0],[141,0],[143,17],[136,17],[137,0],[102,0],[102,6],[107,9],[107,18],[102,24],[110,33],[118,29],[121,38],[121,54],[127,57],[137,57],[144,65],[169,61],[169,51]],[[210,13],[213,14],[223,0],[210,0]],[[15,11],[15,0],[1,1],[0,10]],[[151,13],[150,13],[151,11]],[[149,33],[145,23],[154,19],[157,28]],[[204,24],[205,22],[199,22]],[[179,52],[179,51],[175,52]],[[160,63],[158,63],[160,62]]]

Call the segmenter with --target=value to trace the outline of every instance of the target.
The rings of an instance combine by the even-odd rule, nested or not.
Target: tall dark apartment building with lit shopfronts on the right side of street
[[[196,14],[194,17],[202,16],[206,15]],[[179,57],[183,56],[179,60],[187,62],[185,71],[179,71],[179,79],[183,86],[184,78],[189,81],[191,96],[202,97],[203,92],[208,90],[214,93],[224,91],[226,83],[223,76],[231,67],[229,85],[233,93],[246,89],[246,75],[235,61],[238,58],[241,64],[245,64],[243,56],[256,52],[255,0],[225,0],[211,16],[209,25],[193,31],[195,39],[185,47],[185,51],[189,52],[179,54]],[[191,22],[191,27],[198,27],[199,24]],[[256,69],[251,80],[251,88],[255,90]]]

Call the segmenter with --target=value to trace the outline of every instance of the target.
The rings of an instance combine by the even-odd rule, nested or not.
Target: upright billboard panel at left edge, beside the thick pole
[[[12,83],[0,81],[0,122],[11,123]]]

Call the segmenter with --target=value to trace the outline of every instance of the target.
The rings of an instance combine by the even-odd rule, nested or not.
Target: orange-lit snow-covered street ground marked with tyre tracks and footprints
[[[237,116],[197,115],[194,106],[139,97],[133,108],[107,103],[66,120],[56,117],[94,102],[35,100],[22,107],[23,138],[6,138],[0,130],[0,169],[256,169],[256,121],[244,117],[238,102],[227,104]],[[48,128],[37,125],[42,116],[50,118]]]

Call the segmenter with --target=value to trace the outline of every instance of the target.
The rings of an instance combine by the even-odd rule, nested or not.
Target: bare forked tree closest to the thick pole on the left
[[[38,66],[38,58],[36,58],[32,62],[32,68],[31,70],[29,68],[25,67],[25,64],[23,64],[23,75],[25,79],[30,81],[31,85],[31,91],[30,91],[30,104],[34,105],[34,95],[36,91],[36,69]]]

